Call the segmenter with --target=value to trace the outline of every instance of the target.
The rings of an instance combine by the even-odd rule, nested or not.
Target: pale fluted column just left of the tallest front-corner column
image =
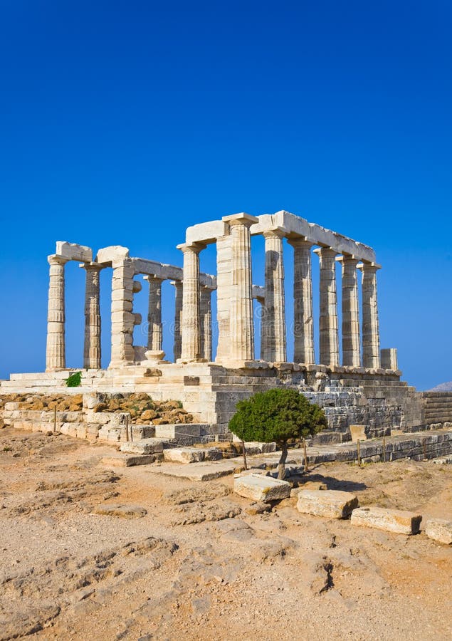
[[[201,360],[199,323],[199,252],[204,245],[178,245],[184,254],[184,288],[182,293],[182,350],[180,360]]]

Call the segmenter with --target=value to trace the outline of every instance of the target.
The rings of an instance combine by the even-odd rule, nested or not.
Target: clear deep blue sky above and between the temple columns
[[[45,366],[56,240],[182,264],[189,224],[287,209],[374,246],[382,346],[399,348],[419,389],[452,380],[450,2],[3,0],[0,11],[0,377]],[[201,268],[214,269],[211,249]],[[67,296],[79,366],[76,264]],[[106,318],[105,353],[107,331]]]

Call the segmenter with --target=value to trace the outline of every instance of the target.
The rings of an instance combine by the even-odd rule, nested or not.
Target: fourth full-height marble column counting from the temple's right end
[[[294,363],[315,363],[314,320],[312,316],[312,243],[289,239],[293,246],[293,336]]]

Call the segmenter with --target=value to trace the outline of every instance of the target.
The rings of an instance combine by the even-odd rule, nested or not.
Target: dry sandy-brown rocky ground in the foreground
[[[112,448],[0,431],[0,640],[446,640],[452,550],[253,509],[231,477],[109,469]],[[315,467],[360,504],[452,518],[452,469]],[[256,514],[256,511],[258,514]]]

